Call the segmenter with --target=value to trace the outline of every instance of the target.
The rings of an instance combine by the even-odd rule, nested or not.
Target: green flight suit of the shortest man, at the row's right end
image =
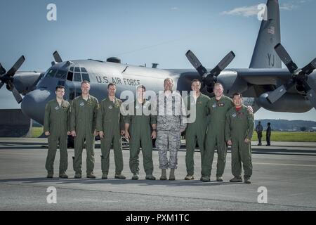
[[[232,141],[232,175],[240,177],[242,165],[244,177],[252,174],[251,143],[244,143],[244,139],[251,140],[254,130],[254,113],[249,113],[246,106],[237,111],[232,108],[226,115],[225,139]],[[242,163],[241,163],[242,162]]]

